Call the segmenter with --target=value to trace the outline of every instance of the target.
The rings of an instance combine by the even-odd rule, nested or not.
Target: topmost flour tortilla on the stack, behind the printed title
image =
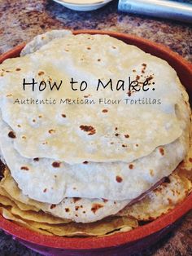
[[[177,73],[164,60],[106,35],[67,34],[46,45],[37,42],[37,49],[32,46],[32,54],[1,65],[2,119],[15,131],[14,147],[23,157],[54,158],[70,165],[84,161],[129,163],[181,136],[181,121],[175,114],[181,90]],[[133,81],[137,75],[139,82],[152,77],[150,90],[129,97],[128,76]],[[23,79],[32,82],[33,77],[37,82],[49,80],[58,85],[62,80],[63,86],[52,91],[46,88],[40,92],[36,88],[33,92],[31,86],[23,90]],[[82,92],[72,90],[72,77],[79,82],[85,80],[88,88]],[[96,91],[98,78],[104,83],[111,78],[114,84],[124,80],[126,88]],[[96,104],[14,104],[15,99],[26,98],[59,102],[94,99]],[[103,98],[122,102],[124,98],[161,99],[162,104],[98,104]],[[103,113],[103,109],[108,112]],[[81,128],[84,126],[92,127],[91,131]]]

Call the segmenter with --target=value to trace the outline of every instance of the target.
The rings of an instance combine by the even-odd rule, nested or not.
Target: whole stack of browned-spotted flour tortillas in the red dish
[[[0,68],[4,218],[49,236],[107,236],[190,193],[189,99],[164,60],[107,35],[55,30]],[[98,79],[113,87],[97,90]]]

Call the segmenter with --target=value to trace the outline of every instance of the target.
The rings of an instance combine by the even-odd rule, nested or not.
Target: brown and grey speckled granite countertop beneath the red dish
[[[0,54],[50,29],[105,29],[130,33],[163,43],[192,61],[190,24],[119,13],[116,0],[103,9],[87,13],[70,11],[52,1],[0,0]],[[137,256],[190,256],[191,248],[192,212],[183,218],[175,232]],[[0,254],[39,255],[12,241],[3,232],[0,232]]]

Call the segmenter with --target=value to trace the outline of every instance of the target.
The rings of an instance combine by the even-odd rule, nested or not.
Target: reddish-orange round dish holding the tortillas
[[[175,68],[177,71],[181,83],[190,95],[190,100],[192,99],[192,64],[188,63],[177,53],[172,52],[168,47],[124,33],[97,30],[74,31],[74,34],[77,33],[108,34],[126,43],[138,46],[143,51],[149,52],[152,55],[167,60],[172,68]],[[11,51],[1,55],[0,63],[7,58],[19,56],[23,47],[24,44],[16,46]],[[137,227],[131,232],[120,232],[106,237],[67,238],[45,236],[11,223],[11,221],[2,218],[2,216],[0,216],[0,228],[13,236],[15,240],[28,246],[28,248],[44,255],[128,255],[135,253],[138,249],[141,251],[146,246],[158,241],[160,237],[164,236],[166,232],[169,232],[178,220],[191,209],[192,193],[181,204],[177,205],[175,209],[155,221]]]

